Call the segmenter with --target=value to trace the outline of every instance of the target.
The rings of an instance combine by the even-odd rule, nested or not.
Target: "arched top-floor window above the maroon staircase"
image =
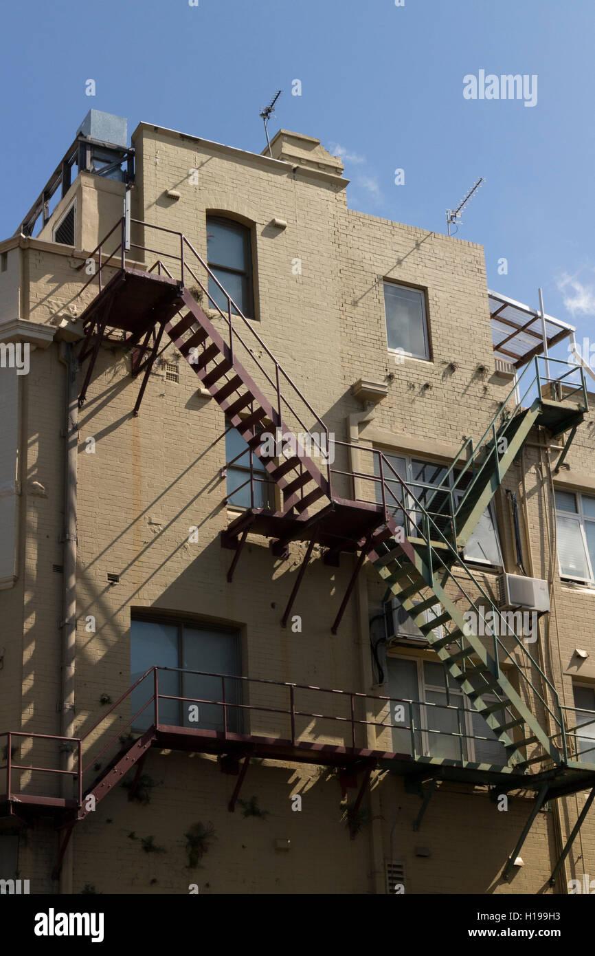
[[[252,237],[242,223],[221,216],[207,216],[206,254],[208,267],[221,282],[223,289],[248,318],[254,317],[252,282]],[[217,283],[209,276],[209,295],[223,313],[227,299]]]

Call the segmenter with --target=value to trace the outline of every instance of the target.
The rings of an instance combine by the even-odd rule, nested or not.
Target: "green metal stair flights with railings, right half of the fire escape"
[[[519,395],[521,380],[528,380],[533,368],[535,375],[521,401],[509,409],[509,400]],[[552,436],[569,430],[567,444],[571,441],[587,406],[584,377],[578,389],[561,384],[569,374],[554,380],[551,393],[555,398],[550,401],[543,397],[544,386],[550,386],[543,380],[539,360],[528,365],[478,445],[465,442],[425,506],[393,472],[394,513],[403,524],[390,518],[372,536],[367,553],[388,586],[387,596],[396,597],[414,619],[499,739],[508,766],[521,772],[532,764],[560,766],[567,762],[563,709],[555,686],[460,552],[533,425],[545,424]],[[523,407],[523,399],[535,389],[537,396],[530,407]],[[577,392],[578,404],[570,401]],[[461,460],[464,464],[459,466]],[[388,462],[386,466],[390,468]],[[455,473],[452,481],[450,475]],[[456,505],[457,489],[461,488],[464,491]],[[428,621],[427,612],[437,603],[440,614]]]

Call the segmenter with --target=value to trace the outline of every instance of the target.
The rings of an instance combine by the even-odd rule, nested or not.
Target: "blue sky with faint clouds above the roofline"
[[[483,176],[458,236],[485,247],[488,285],[533,306],[542,286],[593,339],[592,0],[29,0],[3,27],[3,238],[90,108],[260,151],[281,88],[271,134],[341,150],[353,208],[445,232]],[[465,99],[480,70],[537,76],[536,105]]]

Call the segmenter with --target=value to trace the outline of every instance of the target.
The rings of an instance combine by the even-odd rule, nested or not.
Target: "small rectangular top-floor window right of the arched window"
[[[430,359],[426,294],[422,289],[384,283],[389,348],[413,359]]]

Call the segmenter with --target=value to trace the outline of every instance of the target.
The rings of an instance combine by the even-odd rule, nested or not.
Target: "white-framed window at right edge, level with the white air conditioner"
[[[556,489],[560,576],[595,582],[595,497]]]

